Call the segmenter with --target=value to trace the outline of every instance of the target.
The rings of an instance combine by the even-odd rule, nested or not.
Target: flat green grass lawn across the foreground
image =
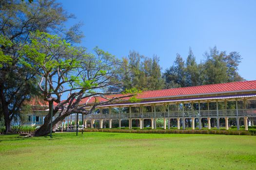
[[[1,170],[255,169],[256,136],[56,133],[0,136]]]

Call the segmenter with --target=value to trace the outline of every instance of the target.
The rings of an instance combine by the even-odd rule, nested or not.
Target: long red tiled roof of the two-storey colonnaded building
[[[152,90],[144,91],[138,94],[138,99],[149,99],[149,98],[162,98],[162,97],[178,97],[178,96],[191,96],[191,95],[204,95],[212,93],[225,93],[225,92],[236,92],[243,90],[256,90],[256,80],[244,81],[244,82],[233,82],[233,83],[222,83],[215,85],[199,85],[193,87],[180,87],[163,90]],[[118,95],[108,95],[106,98],[121,97]],[[97,102],[107,101],[104,98],[96,97]],[[83,99],[81,103],[85,103],[88,98]],[[128,100],[128,98],[122,98],[122,100]],[[95,102],[95,98],[90,99],[89,103]]]

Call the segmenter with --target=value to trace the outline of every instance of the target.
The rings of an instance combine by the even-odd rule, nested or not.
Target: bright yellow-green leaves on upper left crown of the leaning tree
[[[37,30],[35,33],[30,34],[30,39],[31,43],[25,44],[19,51],[21,56],[26,56],[26,58],[20,59],[20,62],[26,67],[34,70],[40,67],[42,68],[41,71],[45,73],[57,68],[73,69],[80,66],[76,58],[56,58],[56,54],[60,52],[60,49],[63,53],[69,53],[71,56],[76,56],[80,53],[79,49],[72,47],[70,43],[62,40],[59,36]],[[29,60],[26,61],[27,59]],[[74,79],[74,77],[71,78]],[[76,80],[74,81],[76,82]]]

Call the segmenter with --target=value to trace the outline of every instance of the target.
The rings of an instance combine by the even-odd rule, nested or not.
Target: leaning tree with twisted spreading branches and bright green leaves
[[[109,86],[120,82],[120,61],[108,52],[95,48],[95,53],[87,53],[84,48],[72,46],[57,35],[37,31],[30,35],[31,43],[20,51],[26,60],[22,64],[37,73],[42,98],[48,102],[49,113],[44,124],[29,136],[43,136],[50,132],[51,109],[53,108],[53,130],[72,113],[89,114],[96,106],[132,97],[127,95],[106,96],[120,92],[105,92]],[[62,94],[69,93],[63,100]],[[105,102],[98,102],[97,97]],[[87,102],[95,99],[90,109]],[[83,103],[80,102],[83,100]],[[53,106],[53,103],[54,106]]]

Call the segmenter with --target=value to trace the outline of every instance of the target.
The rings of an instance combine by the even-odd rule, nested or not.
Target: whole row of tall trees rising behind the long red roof
[[[205,52],[203,61],[197,63],[190,48],[186,60],[177,53],[172,66],[161,73],[157,55],[150,58],[130,51],[128,57],[123,58],[122,87],[158,90],[243,81],[238,73],[241,60],[236,51],[227,54],[214,47]]]

